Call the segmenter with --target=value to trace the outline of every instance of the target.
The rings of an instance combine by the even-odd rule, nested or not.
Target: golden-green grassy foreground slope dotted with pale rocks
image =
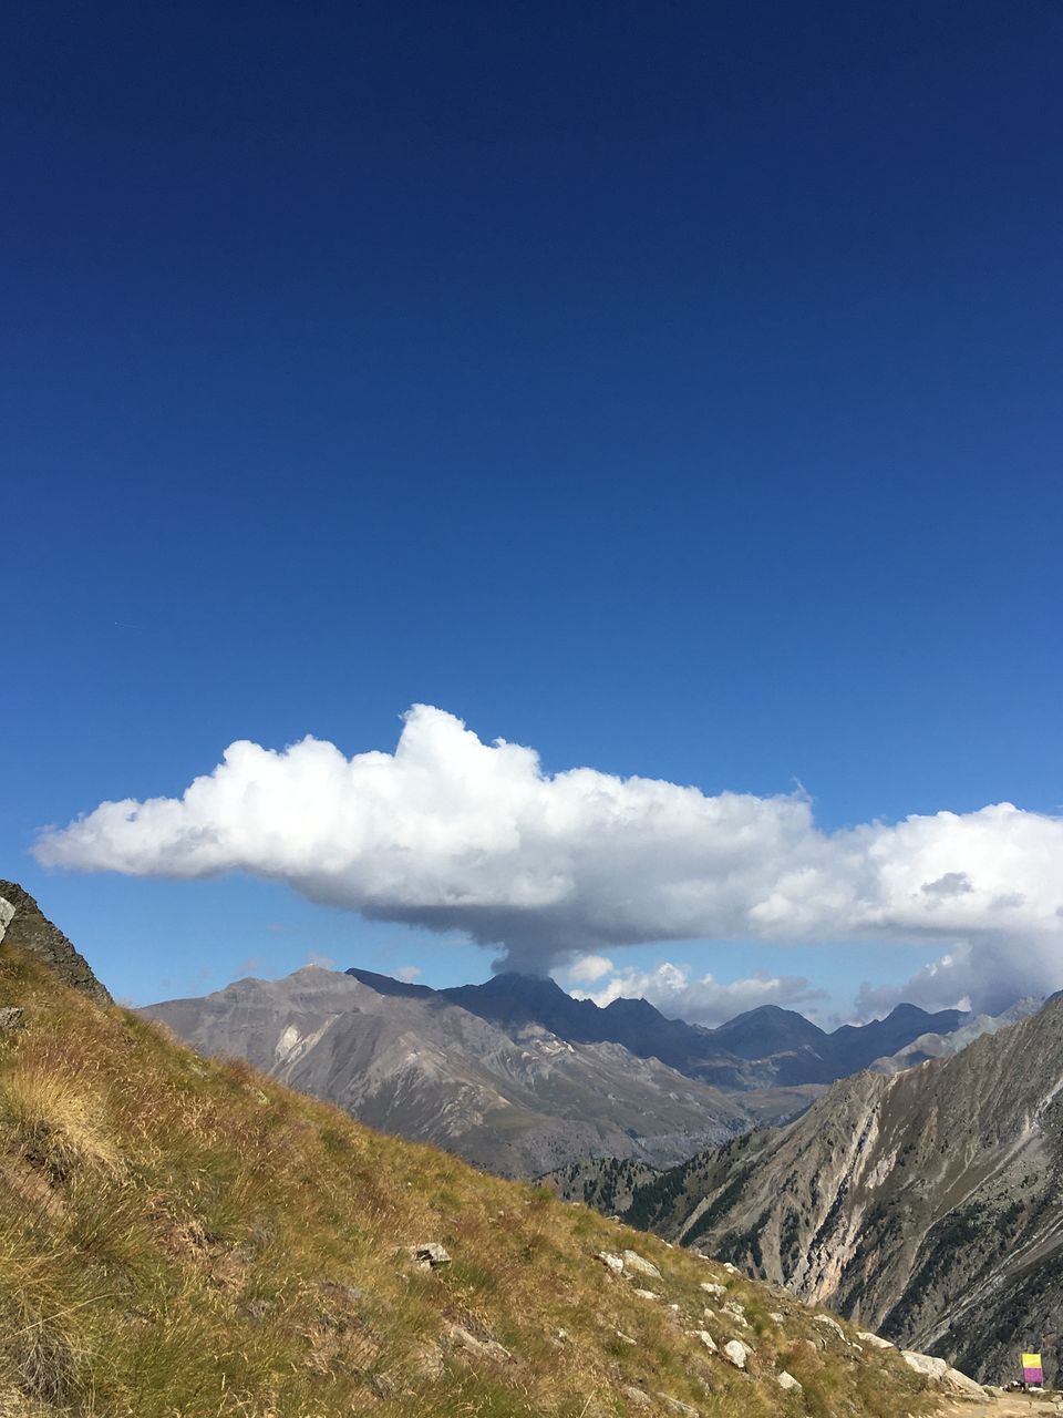
[[[24,1010],[0,1032],[6,1418],[933,1408],[896,1353],[778,1292],[206,1062],[7,949],[3,1005]],[[427,1241],[452,1262],[400,1249]],[[595,1259],[625,1246],[660,1278]],[[744,1340],[748,1371],[692,1330]]]

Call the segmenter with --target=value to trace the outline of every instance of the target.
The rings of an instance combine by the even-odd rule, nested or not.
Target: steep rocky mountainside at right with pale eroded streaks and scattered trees
[[[651,1176],[550,1178],[975,1377],[1063,1360],[1063,1000],[903,1072],[863,1072],[781,1129]]]

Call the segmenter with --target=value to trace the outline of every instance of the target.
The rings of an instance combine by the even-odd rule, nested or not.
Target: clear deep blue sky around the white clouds
[[[1057,814],[1062,40],[1036,0],[16,4],[3,872],[136,1000],[483,977],[279,882],[28,855],[417,702],[547,773],[799,781],[826,832]],[[947,946],[608,956],[845,1008]]]

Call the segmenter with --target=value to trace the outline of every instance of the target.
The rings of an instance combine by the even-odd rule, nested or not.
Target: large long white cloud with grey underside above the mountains
[[[103,803],[35,855],[139,876],[245,871],[500,944],[522,970],[655,940],[865,939],[1036,950],[1063,973],[1057,817],[998,803],[829,834],[804,793],[547,774],[534,750],[483,743],[428,705],[394,753],[234,743],[180,798]]]

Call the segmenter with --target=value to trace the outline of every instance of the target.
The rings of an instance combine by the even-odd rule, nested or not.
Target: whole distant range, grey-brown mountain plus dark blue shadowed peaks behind
[[[145,1014],[374,1127],[524,1177],[588,1157],[676,1164],[798,1115],[839,1073],[965,1018],[903,1005],[826,1034],[764,1007],[706,1029],[645,1000],[600,1008],[530,976],[431,990],[319,967]]]

